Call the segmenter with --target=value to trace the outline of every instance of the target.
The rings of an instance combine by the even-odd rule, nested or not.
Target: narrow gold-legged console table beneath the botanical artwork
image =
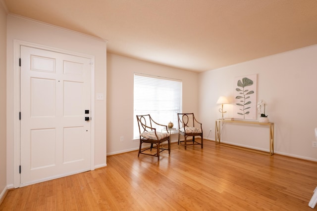
[[[269,155],[274,154],[274,123],[259,123],[252,121],[240,121],[240,120],[216,120],[215,124],[215,143],[220,143],[220,125],[221,123],[238,123],[238,124],[255,124],[269,127]]]

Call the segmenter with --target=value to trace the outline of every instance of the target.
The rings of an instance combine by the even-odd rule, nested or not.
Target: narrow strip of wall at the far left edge
[[[6,190],[6,11],[0,2],[0,202]]]

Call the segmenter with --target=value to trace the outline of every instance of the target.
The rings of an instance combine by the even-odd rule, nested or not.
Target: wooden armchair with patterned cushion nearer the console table
[[[194,116],[194,113],[185,113],[185,114],[177,114],[178,115],[178,144],[184,142],[184,147],[186,149],[187,145],[196,145],[200,144],[203,149],[203,127],[200,122],[198,122]],[[180,135],[184,136],[184,141],[180,141]],[[193,136],[192,140],[189,142],[193,142],[188,144],[187,137]],[[195,136],[201,137],[201,142],[197,142],[195,140]]]

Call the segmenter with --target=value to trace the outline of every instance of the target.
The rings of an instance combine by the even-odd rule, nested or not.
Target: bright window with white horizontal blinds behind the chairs
[[[177,127],[177,113],[182,113],[181,80],[134,74],[134,139],[139,138],[136,115],[150,114],[159,124]]]

